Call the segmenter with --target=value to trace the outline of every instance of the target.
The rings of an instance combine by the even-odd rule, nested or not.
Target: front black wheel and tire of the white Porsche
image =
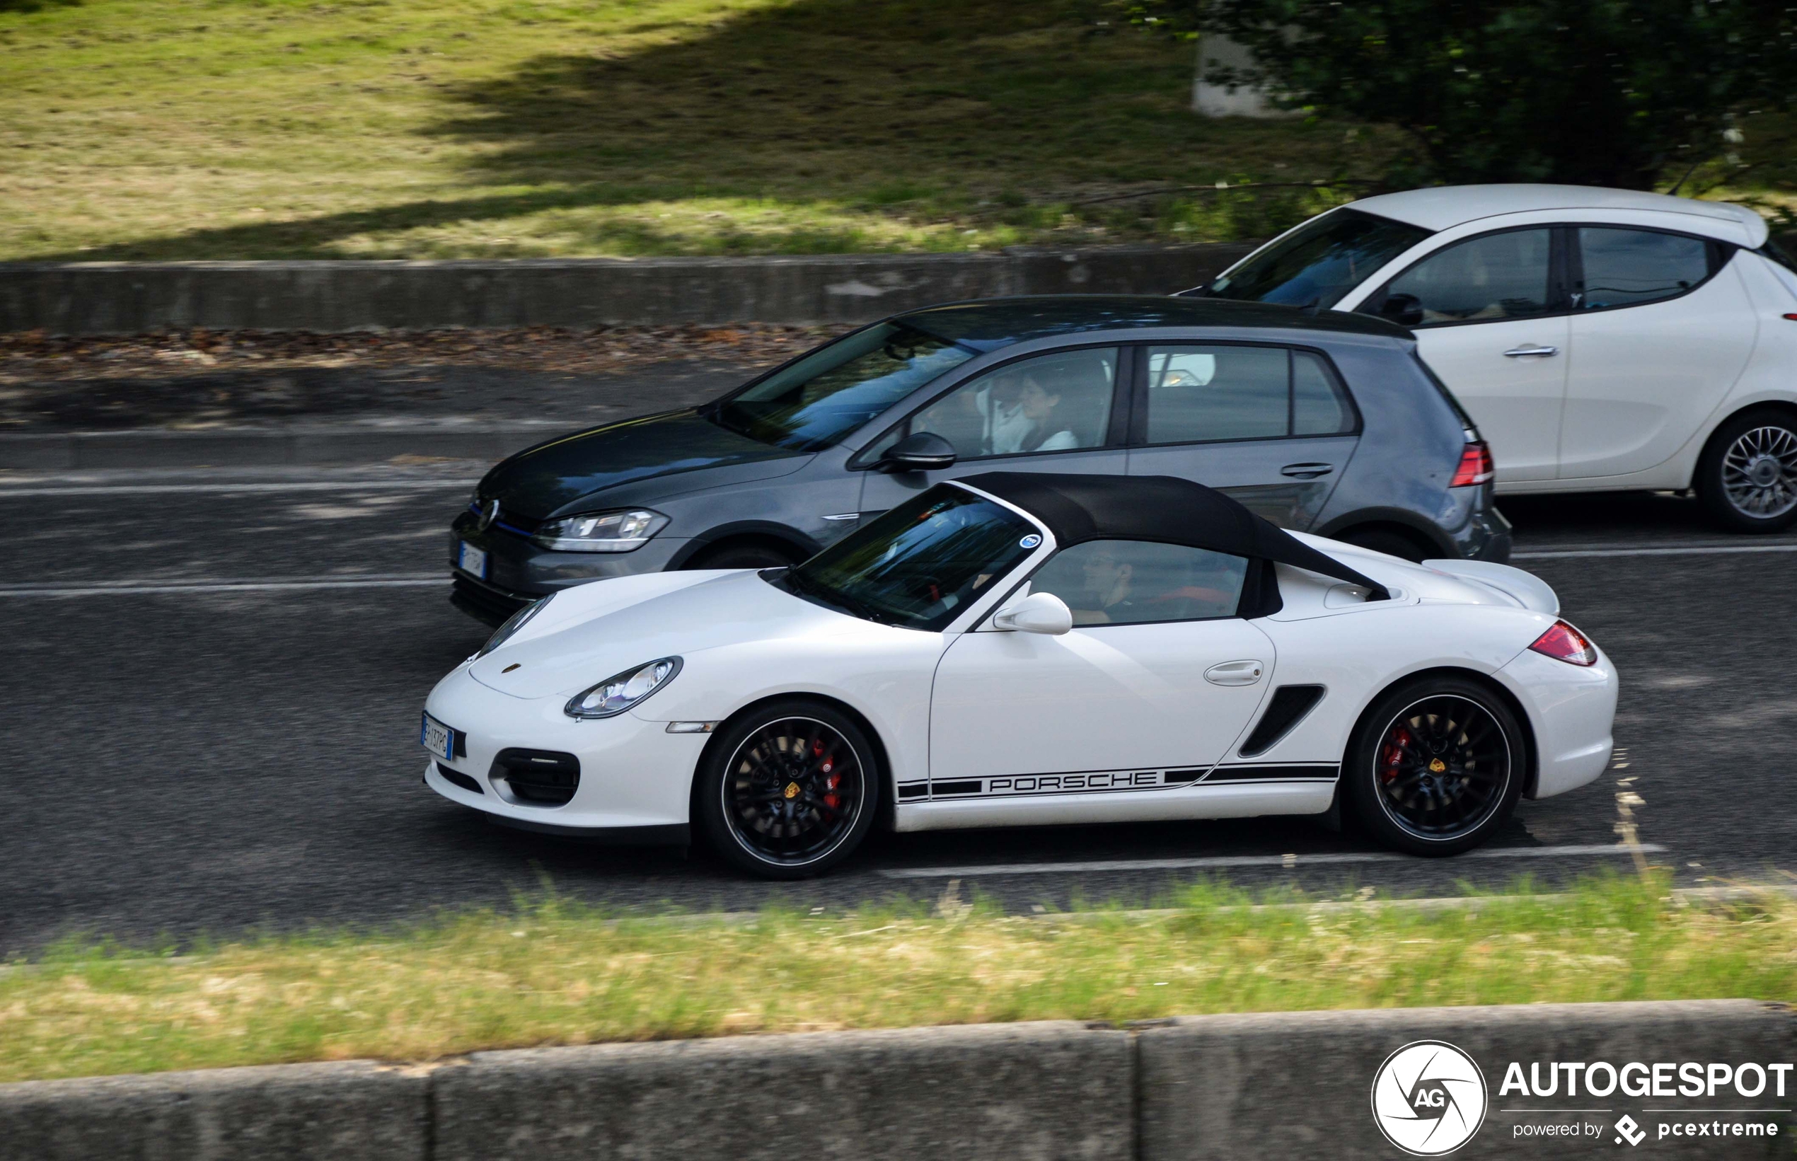
[[[728,863],[764,879],[809,879],[846,859],[881,807],[884,775],[866,731],[825,701],[789,697],[712,739],[692,816]]]

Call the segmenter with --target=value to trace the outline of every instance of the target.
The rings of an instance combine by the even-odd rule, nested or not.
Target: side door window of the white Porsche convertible
[[[1075,625],[1129,625],[1235,616],[1245,579],[1247,561],[1224,552],[1087,541],[1057,552],[1030,591],[1066,600]]]

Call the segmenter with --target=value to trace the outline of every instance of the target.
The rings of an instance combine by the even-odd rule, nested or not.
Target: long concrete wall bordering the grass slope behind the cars
[[[449,262],[7,262],[0,331],[358,331],[866,322],[994,295],[1197,286],[1253,246]]]

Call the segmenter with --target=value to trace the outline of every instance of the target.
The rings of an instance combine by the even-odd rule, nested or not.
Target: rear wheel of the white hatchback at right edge
[[[1704,446],[1691,485],[1725,528],[1790,528],[1797,523],[1797,415],[1761,408],[1722,424]]]

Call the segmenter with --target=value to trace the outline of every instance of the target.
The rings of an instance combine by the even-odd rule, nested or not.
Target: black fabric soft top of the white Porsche
[[[988,471],[954,483],[1015,503],[1055,534],[1062,548],[1084,541],[1159,541],[1276,561],[1362,584],[1368,600],[1385,586],[1324,555],[1217,489],[1177,476],[1071,476]]]

